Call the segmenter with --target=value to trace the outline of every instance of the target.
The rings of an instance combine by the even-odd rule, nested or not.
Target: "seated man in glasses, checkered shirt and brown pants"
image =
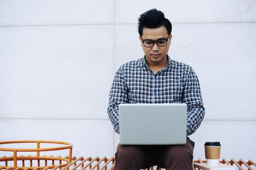
[[[118,105],[121,103],[186,103],[187,136],[204,118],[198,77],[184,63],[167,55],[171,45],[171,22],[164,13],[151,9],[138,19],[138,32],[145,56],[121,65],[109,94],[108,116],[119,133]],[[136,118],[135,118],[136,119]],[[121,145],[115,154],[115,170],[139,170],[159,166],[166,170],[193,170],[194,142],[185,145]]]

